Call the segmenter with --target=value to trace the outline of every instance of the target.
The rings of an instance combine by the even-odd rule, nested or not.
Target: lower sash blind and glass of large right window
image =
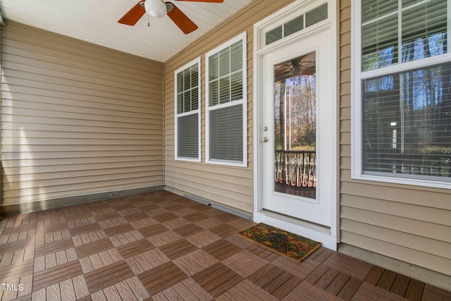
[[[363,83],[364,172],[451,180],[451,63]]]

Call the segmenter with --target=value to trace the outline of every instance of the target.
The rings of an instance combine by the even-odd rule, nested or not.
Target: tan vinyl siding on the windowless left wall
[[[163,184],[163,64],[8,22],[3,204]]]

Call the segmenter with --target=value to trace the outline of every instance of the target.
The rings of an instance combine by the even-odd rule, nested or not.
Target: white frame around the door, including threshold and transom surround
[[[279,39],[276,42],[265,45],[265,33],[268,30],[277,27],[278,25],[282,25],[288,20],[292,20],[296,18],[300,14],[305,11],[309,11],[310,9],[316,8],[323,3],[328,3],[328,18],[323,20],[315,25],[311,25],[310,27],[305,28],[299,32],[296,32],[288,37],[284,37],[283,39]],[[338,29],[337,29],[337,20],[338,20],[338,11],[337,4],[335,0],[296,0],[292,4],[285,6],[280,9],[276,13],[273,13],[271,16],[264,18],[258,23],[254,24],[254,72],[253,72],[253,88],[254,88],[254,221],[259,223],[269,223],[273,226],[283,228],[287,231],[297,233],[299,235],[304,235],[308,238],[318,240],[323,243],[324,247],[327,247],[332,250],[337,250],[337,244],[340,241],[339,237],[339,176],[338,176],[338,155],[339,155],[339,145],[338,139],[339,137],[339,126],[338,126]],[[335,74],[335,81],[333,81],[333,87],[330,87],[333,91],[335,91],[335,102],[332,105],[332,111],[335,112],[332,115],[332,120],[330,121],[331,125],[334,127],[333,132],[335,132],[334,137],[330,137],[331,145],[335,145],[335,148],[331,149],[332,156],[332,166],[330,173],[333,175],[331,178],[331,190],[332,197],[331,206],[330,206],[330,228],[324,228],[312,223],[308,223],[306,221],[300,221],[289,216],[284,216],[282,214],[277,214],[273,211],[266,211],[263,208],[263,204],[261,202],[262,195],[262,176],[261,176],[261,164],[263,164],[263,157],[261,154],[261,138],[263,135],[263,110],[262,110],[262,87],[264,83],[262,82],[261,74],[263,70],[263,56],[265,54],[270,53],[271,51],[275,51],[276,49],[280,49],[283,47],[290,47],[290,44],[294,44],[298,42],[299,39],[303,37],[307,37],[309,35],[314,35],[316,32],[321,32],[322,29],[329,28],[330,29],[330,47],[331,53],[335,54],[333,56],[333,64],[330,66],[330,72]]]

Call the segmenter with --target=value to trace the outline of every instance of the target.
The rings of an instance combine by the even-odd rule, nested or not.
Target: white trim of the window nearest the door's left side
[[[235,100],[233,102],[228,102],[226,104],[218,104],[216,106],[212,106],[211,109],[210,99],[209,99],[209,58],[213,54],[218,53],[222,49],[231,46],[232,44],[235,44],[236,42],[239,42],[242,40],[242,94],[243,99],[241,100]],[[228,42],[221,44],[220,46],[216,47],[215,49],[212,49],[211,51],[207,52],[205,54],[205,152],[206,152],[206,158],[205,162],[207,164],[219,164],[219,165],[227,165],[227,166],[240,166],[240,167],[247,167],[247,32],[242,32],[240,35],[237,35],[233,39],[228,40]],[[215,159],[209,159],[210,158],[210,126],[209,126],[209,117],[210,117],[210,111],[215,109],[221,109],[225,108],[227,106],[235,106],[242,104],[242,162],[236,162],[236,161],[225,161],[225,160],[215,160]]]

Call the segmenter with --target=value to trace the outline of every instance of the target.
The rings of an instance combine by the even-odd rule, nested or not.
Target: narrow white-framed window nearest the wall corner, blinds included
[[[175,70],[175,159],[200,161],[200,58]]]

